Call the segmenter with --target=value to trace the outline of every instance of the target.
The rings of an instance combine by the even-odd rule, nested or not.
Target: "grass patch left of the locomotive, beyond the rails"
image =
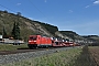
[[[0,44],[0,51],[15,51],[18,48],[28,48],[26,44],[12,45],[12,44]]]

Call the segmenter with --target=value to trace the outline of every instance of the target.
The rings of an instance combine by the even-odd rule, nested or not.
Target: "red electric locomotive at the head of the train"
[[[30,35],[28,46],[30,48],[48,47],[52,46],[52,40],[51,37],[46,37],[46,36]]]

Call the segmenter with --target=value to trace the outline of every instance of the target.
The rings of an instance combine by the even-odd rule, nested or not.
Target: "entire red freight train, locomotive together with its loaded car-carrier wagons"
[[[41,35],[30,35],[28,41],[29,48],[37,47],[63,47],[63,46],[75,46],[74,42],[63,42],[61,40],[53,40],[51,37]]]

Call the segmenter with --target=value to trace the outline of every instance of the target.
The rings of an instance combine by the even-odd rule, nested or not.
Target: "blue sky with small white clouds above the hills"
[[[74,31],[99,35],[99,0],[0,0],[0,10]]]

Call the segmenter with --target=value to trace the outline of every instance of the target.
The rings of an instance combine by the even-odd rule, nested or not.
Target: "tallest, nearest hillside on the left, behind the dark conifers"
[[[4,26],[8,35],[11,36],[13,23],[19,22],[20,24],[20,34],[23,40],[28,40],[31,34],[41,34],[46,36],[54,36],[54,31],[58,31],[57,26],[45,24],[38,21],[30,20],[22,15],[9,13],[8,11],[0,11],[0,34],[2,34],[2,29]],[[48,26],[53,32],[50,32]]]

